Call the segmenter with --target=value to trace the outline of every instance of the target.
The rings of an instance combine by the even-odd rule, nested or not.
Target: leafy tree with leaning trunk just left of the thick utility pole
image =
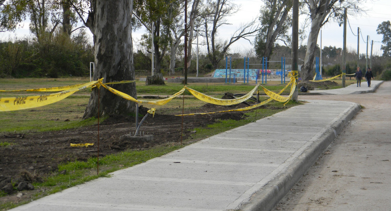
[[[292,0],[263,0],[260,21],[263,26],[255,40],[255,51],[258,57],[270,58],[276,40],[289,43],[288,30],[292,25],[289,11]]]

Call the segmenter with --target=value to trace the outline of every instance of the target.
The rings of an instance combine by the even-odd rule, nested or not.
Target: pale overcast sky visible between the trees
[[[227,25],[221,28],[218,32],[218,36],[221,38],[229,39],[230,36],[242,23],[246,23],[254,20],[259,16],[259,11],[262,5],[261,0],[237,0],[237,4],[240,4],[240,11],[235,16],[229,17],[228,22],[231,25]],[[366,14],[361,16],[348,16],[350,27],[347,27],[347,48],[350,51],[357,51],[357,27],[360,27],[360,54],[366,53],[367,35],[369,35],[369,44],[373,40],[373,54],[381,55],[380,50],[382,35],[376,33],[377,26],[383,21],[391,21],[391,0],[367,0],[362,4],[362,8],[367,10]],[[299,17],[300,22],[304,21],[304,16]],[[299,23],[300,27],[301,23]],[[350,29],[351,28],[351,29]],[[7,40],[9,36],[25,36],[28,34],[28,23],[24,23],[22,29],[18,29],[15,34],[0,33],[0,40]],[[141,29],[133,33],[133,39],[137,39],[141,34],[145,33],[145,29]],[[308,30],[306,32],[308,34]],[[250,39],[254,41],[254,38]],[[365,42],[364,42],[365,41]],[[201,42],[201,41],[200,41]],[[302,43],[306,45],[306,40]],[[320,45],[320,36],[318,38],[318,44]],[[343,45],[343,26],[339,26],[336,22],[326,23],[322,27],[322,46],[336,46],[341,47]],[[252,49],[253,46],[246,40],[241,40],[232,45],[232,51],[246,52]],[[370,53],[370,45],[369,45]]]

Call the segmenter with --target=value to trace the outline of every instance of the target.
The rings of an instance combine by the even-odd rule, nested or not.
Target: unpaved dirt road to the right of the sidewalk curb
[[[391,82],[375,93],[299,96],[364,106],[275,210],[390,210]]]

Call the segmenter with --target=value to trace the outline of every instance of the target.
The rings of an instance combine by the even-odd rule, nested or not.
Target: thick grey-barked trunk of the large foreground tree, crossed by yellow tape
[[[134,80],[134,66],[131,42],[132,0],[97,0],[94,16],[94,80],[103,82]],[[113,84],[113,88],[136,98],[134,83]],[[134,112],[135,103],[125,100],[109,90],[93,88],[83,118],[96,117],[98,106],[100,116],[126,115]]]

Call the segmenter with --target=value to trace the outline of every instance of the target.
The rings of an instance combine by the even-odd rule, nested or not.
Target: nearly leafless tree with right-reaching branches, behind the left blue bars
[[[201,13],[203,37],[206,40],[207,57],[214,68],[217,68],[218,63],[224,59],[224,55],[234,42],[241,38],[248,40],[248,37],[254,36],[260,30],[259,24],[254,20],[240,26],[228,41],[218,39],[218,28],[230,24],[226,17],[234,15],[238,10],[238,5],[230,0],[207,0],[204,5]]]

